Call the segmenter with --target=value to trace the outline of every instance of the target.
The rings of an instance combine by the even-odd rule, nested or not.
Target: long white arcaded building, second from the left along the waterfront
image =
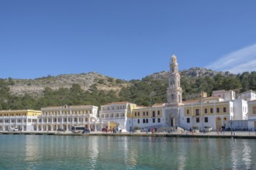
[[[100,131],[97,120],[98,107],[91,105],[43,107],[42,115],[34,124],[34,131],[71,131],[74,125],[85,126],[91,131]]]

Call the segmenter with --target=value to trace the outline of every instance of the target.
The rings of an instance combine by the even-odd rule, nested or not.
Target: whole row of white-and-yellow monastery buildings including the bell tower
[[[256,93],[248,90],[216,90],[211,97],[206,93],[193,94],[182,101],[181,76],[178,61],[171,56],[168,74],[167,103],[151,107],[130,102],[113,102],[100,108],[91,105],[43,107],[41,110],[1,110],[0,131],[71,131],[72,126],[85,126],[90,131],[119,127],[122,131],[175,128],[213,131],[255,131]]]

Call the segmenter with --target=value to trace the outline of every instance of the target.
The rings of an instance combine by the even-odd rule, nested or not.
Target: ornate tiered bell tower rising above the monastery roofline
[[[168,73],[167,100],[168,106],[182,105],[182,87],[180,87],[181,76],[178,73],[177,57],[171,56],[170,70]]]

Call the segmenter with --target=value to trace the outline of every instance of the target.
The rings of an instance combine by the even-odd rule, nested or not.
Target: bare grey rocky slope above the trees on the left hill
[[[59,90],[61,87],[70,89],[74,83],[79,84],[82,90],[88,90],[92,85],[96,85],[99,90],[114,90],[116,92],[130,84],[124,80],[95,72],[61,74],[59,76],[47,76],[34,80],[13,79],[13,82],[12,85],[9,85],[9,89],[12,94],[17,96],[24,95],[25,93],[40,96],[46,87],[50,87],[52,90]]]

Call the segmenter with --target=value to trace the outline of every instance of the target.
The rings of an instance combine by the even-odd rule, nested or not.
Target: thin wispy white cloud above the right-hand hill
[[[229,53],[206,68],[231,73],[256,71],[256,44]]]

